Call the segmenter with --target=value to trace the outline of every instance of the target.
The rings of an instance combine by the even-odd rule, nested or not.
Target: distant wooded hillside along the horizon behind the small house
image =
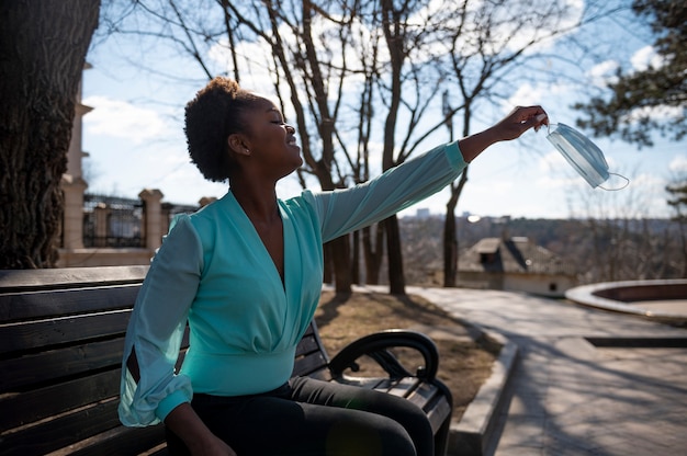
[[[577,266],[581,283],[685,276],[679,226],[669,219],[562,220],[482,218],[458,220],[459,249],[482,238],[527,237]],[[443,269],[443,218],[399,219],[406,282],[421,284],[423,269]],[[423,265],[423,267],[416,267]]]

